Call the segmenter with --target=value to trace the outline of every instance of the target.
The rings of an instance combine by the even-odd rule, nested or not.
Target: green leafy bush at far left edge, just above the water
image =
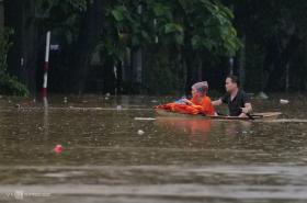
[[[13,34],[12,30],[3,30],[0,32],[0,92],[26,97],[29,95],[27,88],[15,77],[12,77],[7,72],[8,50],[11,46],[9,36],[11,34]]]

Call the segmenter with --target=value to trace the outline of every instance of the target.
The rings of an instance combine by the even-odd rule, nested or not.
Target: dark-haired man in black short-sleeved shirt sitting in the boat
[[[213,105],[228,104],[230,116],[247,117],[252,112],[252,106],[249,97],[246,92],[239,89],[239,80],[236,76],[226,78],[226,94],[219,100],[213,101]]]

